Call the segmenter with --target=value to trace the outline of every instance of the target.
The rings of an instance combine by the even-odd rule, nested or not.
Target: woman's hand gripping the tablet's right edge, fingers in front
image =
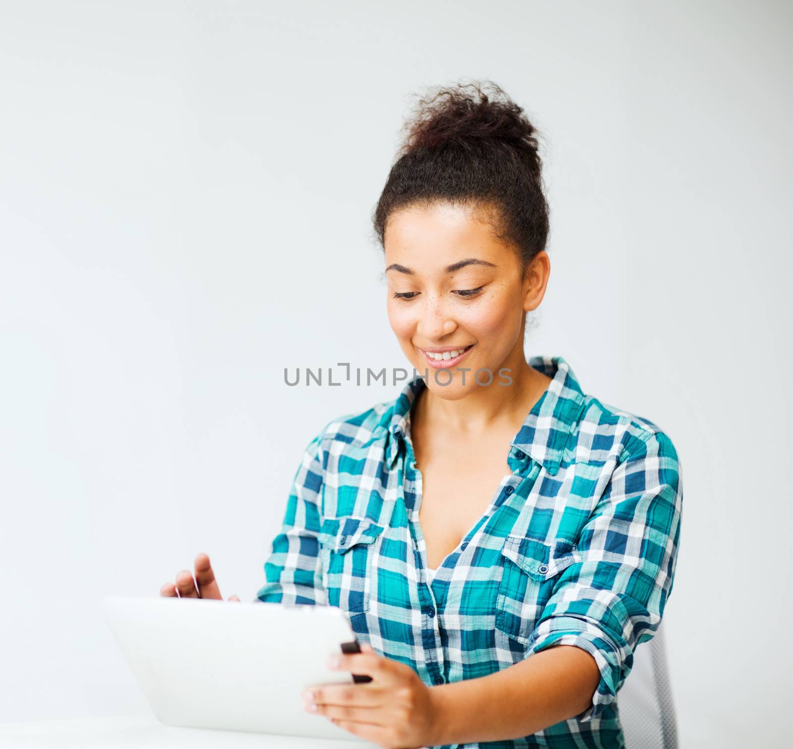
[[[361,645],[360,653],[333,660],[337,665],[329,663],[329,668],[366,674],[372,681],[308,687],[303,699],[309,713],[324,715],[339,728],[381,747],[409,749],[435,743],[439,708],[432,688],[410,666],[377,655],[368,644]]]

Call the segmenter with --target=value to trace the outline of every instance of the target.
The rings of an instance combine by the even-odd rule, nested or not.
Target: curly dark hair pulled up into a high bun
[[[484,213],[525,270],[546,248],[549,209],[538,132],[523,109],[492,81],[458,81],[419,98],[402,129],[404,143],[372,215],[381,248],[392,213],[450,202]]]

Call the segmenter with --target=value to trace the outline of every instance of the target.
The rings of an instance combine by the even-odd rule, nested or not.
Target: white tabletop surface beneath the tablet
[[[306,715],[306,720],[321,716]],[[323,720],[327,720],[324,718]],[[174,728],[153,715],[78,718],[74,720],[33,720],[25,723],[0,723],[2,749],[106,749],[106,747],[145,747],[145,749],[370,749],[377,744],[353,739],[308,739],[263,733],[206,731],[201,728]]]

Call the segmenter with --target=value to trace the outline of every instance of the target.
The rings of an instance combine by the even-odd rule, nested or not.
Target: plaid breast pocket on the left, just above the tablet
[[[369,611],[377,540],[384,526],[367,517],[327,517],[320,526],[322,580],[328,604],[350,614]]]

